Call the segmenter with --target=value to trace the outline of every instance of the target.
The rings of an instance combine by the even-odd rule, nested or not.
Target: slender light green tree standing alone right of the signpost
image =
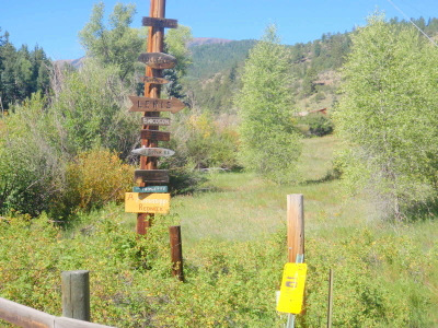
[[[242,164],[277,183],[295,178],[300,154],[299,134],[291,121],[290,59],[279,44],[276,27],[268,26],[250,51],[235,101]]]

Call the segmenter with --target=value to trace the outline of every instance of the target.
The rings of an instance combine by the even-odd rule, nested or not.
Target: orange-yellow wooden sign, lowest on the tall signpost
[[[125,194],[125,212],[166,214],[171,208],[170,194]]]

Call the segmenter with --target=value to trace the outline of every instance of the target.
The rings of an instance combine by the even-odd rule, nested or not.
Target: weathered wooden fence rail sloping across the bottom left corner
[[[56,317],[0,297],[0,319],[24,328],[115,328],[66,317]]]

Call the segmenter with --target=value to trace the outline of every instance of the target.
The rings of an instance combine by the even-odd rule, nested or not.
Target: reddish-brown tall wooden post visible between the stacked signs
[[[165,16],[165,0],[151,0],[150,13],[151,17],[163,19]],[[149,26],[148,33],[148,52],[162,52],[164,44],[164,27]],[[161,70],[152,69],[149,66],[146,67],[146,77],[161,78]],[[161,85],[145,83],[145,97],[160,98]],[[145,117],[159,117],[160,112],[145,112]],[[143,129],[158,130],[158,126],[145,126]],[[142,147],[158,147],[155,140],[148,140],[141,136]],[[141,156],[140,157],[140,169],[157,169],[157,157]],[[142,183],[140,187],[146,187],[146,183]],[[148,229],[152,225],[153,213],[138,213],[137,214],[137,233],[146,235]]]

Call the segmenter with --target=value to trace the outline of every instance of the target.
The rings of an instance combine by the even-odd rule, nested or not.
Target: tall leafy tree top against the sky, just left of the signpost
[[[104,9],[103,2],[93,7],[90,22],[79,32],[79,38],[87,56],[104,66],[117,66],[122,80],[125,80],[135,71],[138,55],[145,48],[145,36],[139,30],[129,27],[136,13],[134,4],[117,3],[110,15],[108,27],[103,22]]]

